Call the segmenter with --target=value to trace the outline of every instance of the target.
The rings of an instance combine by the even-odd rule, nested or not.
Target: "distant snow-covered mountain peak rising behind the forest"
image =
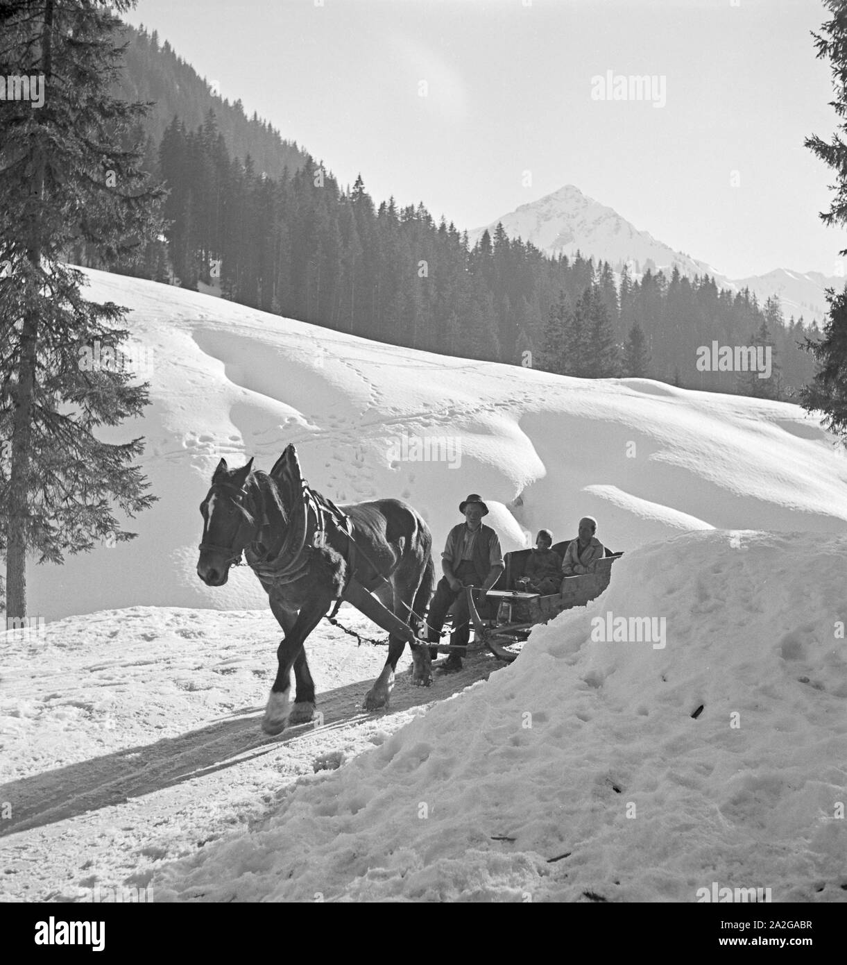
[[[843,277],[827,277],[817,271],[798,272],[777,268],[764,275],[730,279],[707,262],[700,262],[683,252],[675,251],[652,234],[640,231],[622,218],[613,208],[588,198],[578,187],[565,184],[553,194],[521,205],[497,218],[484,228],[468,233],[474,244],[487,229],[493,233],[503,223],[509,237],[522,237],[551,256],[574,256],[581,251],[584,257],[609,262],[613,267],[629,262],[631,271],[641,275],[647,267],[663,269],[669,275],[676,266],[693,277],[709,274],[719,288],[741,291],[749,288],[760,303],[772,295],[779,295],[787,320],[790,316],[804,316],[806,321],[821,319],[827,313],[825,290],[843,288]]]

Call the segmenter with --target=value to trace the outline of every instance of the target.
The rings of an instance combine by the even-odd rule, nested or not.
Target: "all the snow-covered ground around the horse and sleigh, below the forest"
[[[845,899],[847,475],[817,420],[88,275],[153,348],[152,405],[110,434],[148,438],[160,501],[132,543],[33,567],[45,632],[0,634],[0,899]],[[626,553],[506,668],[477,652],[423,690],[404,654],[385,712],[360,709],[385,650],[322,624],[324,717],[268,738],[281,631],[251,574],[197,578],[198,505],[221,455],[269,469],[288,442],[337,501],[408,499],[436,550],[477,491],[505,549],[589,513]],[[593,642],[607,614],[667,645]]]

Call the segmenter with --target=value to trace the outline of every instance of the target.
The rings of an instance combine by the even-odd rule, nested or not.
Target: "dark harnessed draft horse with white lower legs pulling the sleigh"
[[[200,579],[209,587],[223,586],[243,553],[283,628],[277,676],[261,722],[265,733],[278,734],[314,718],[314,681],[304,644],[334,601],[338,609],[345,588],[359,594],[364,612],[375,607],[391,622],[391,615],[370,596],[378,591],[408,628],[401,635],[397,630],[404,627],[393,624],[388,657],[365,695],[365,709],[388,706],[407,640],[412,682],[429,686],[429,650],[411,642],[418,637],[435,587],[432,534],[417,510],[398,499],[336,507],[303,480],[296,450],[288,445],[269,474],[253,469],[253,458],[240,469],[230,469],[222,458],[200,511]],[[293,706],[292,667],[297,684]]]

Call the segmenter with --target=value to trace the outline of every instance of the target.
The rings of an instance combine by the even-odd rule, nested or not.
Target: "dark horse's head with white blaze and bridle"
[[[221,459],[200,504],[204,527],[197,575],[206,586],[222,587],[229,578],[230,566],[256,536],[259,521],[247,490],[252,467],[253,459],[240,469],[229,469],[227,460]]]

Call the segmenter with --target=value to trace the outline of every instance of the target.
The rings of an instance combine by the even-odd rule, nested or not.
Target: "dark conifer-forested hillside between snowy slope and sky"
[[[155,34],[129,31],[123,96],[156,101],[147,164],[170,189],[165,240],[129,274],[396,345],[583,377],[792,398],[813,374],[816,326],[708,275],[617,275],[579,252],[550,258],[498,225],[471,247],[423,203],[342,187],[294,142],[205,81]],[[98,266],[84,251],[75,260]],[[699,371],[697,349],[762,345],[773,372]]]

